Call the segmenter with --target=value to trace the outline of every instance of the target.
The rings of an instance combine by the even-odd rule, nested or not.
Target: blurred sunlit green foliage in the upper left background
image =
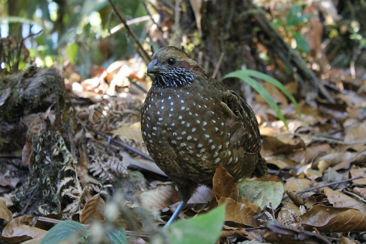
[[[113,0],[127,20],[146,15],[141,1]],[[30,59],[39,66],[62,66],[65,60],[80,67],[88,76],[91,64],[108,66],[122,57],[134,55],[133,43],[122,28],[114,34],[109,29],[120,24],[107,0],[2,0],[0,1],[1,37],[24,44]],[[141,36],[144,23],[131,25]],[[26,63],[20,62],[23,68]]]

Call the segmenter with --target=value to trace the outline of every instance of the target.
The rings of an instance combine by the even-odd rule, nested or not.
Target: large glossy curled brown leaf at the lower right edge
[[[366,231],[366,213],[357,209],[315,205],[300,218],[301,226],[307,230],[316,227],[320,232]]]

